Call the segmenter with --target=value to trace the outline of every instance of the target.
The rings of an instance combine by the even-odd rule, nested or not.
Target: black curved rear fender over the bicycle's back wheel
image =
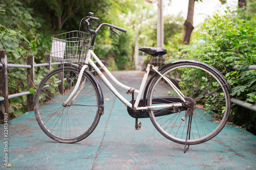
[[[200,61],[195,61],[195,60],[180,60],[180,61],[174,61],[174,62],[171,62],[171,63],[167,63],[165,64],[164,66],[162,66],[161,68],[158,69],[159,72],[161,72],[162,70],[164,70],[165,68],[167,68],[168,66],[171,66],[171,65],[175,65],[175,64],[179,64],[179,63],[196,63],[196,64],[200,64],[202,66],[205,66],[209,69],[211,69],[212,71],[214,71],[218,76],[220,76],[220,78],[222,79],[222,81],[226,84],[227,86],[227,89],[229,92],[232,92],[231,90],[231,87],[229,85],[229,83],[227,82],[227,80],[223,77],[223,75],[221,74],[221,72],[219,72],[216,68],[206,64],[206,63],[203,63],[203,62],[200,62]],[[147,102],[146,102],[146,98],[147,98],[147,92],[148,92],[148,88],[150,87],[150,84],[152,82],[152,80],[157,76],[157,73],[155,72],[152,77],[150,78],[150,80],[147,82],[147,85],[145,87],[145,90],[144,90],[144,94],[143,94],[143,103],[144,103],[144,106],[147,105]]]

